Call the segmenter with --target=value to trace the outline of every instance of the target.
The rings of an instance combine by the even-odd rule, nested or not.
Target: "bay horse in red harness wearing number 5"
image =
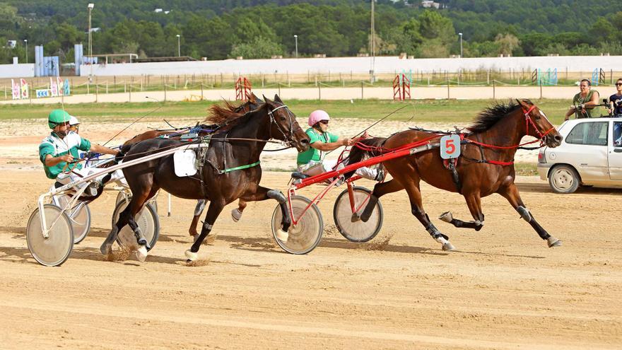
[[[560,240],[549,235],[536,222],[520,199],[514,184],[513,161],[523,136],[534,136],[549,147],[559,146],[562,136],[548,121],[544,112],[531,101],[517,100],[517,102],[518,104],[512,101],[507,105],[496,104],[483,110],[476,118],[474,126],[469,128],[471,132],[462,135],[461,155],[455,163],[444,163],[438,148],[384,162],[393,179],[377,183],[363,214],[354,214],[352,220],[367,221],[380,197],[406,189],[412,214],[423,224],[426,231],[442,244],[443,250],[454,249],[447,235],[440,233],[430,222],[428,214],[423,211],[419,189],[419,182],[423,180],[434,187],[462,194],[474,218],[474,221],[461,221],[453,218],[450,212],[446,212],[440,216],[442,221],[452,223],[456,227],[474,228],[479,231],[484,220],[480,199],[498,193],[510,202],[543,240],[547,241],[549,247],[561,245]],[[363,156],[378,156],[383,151],[440,136],[421,130],[407,130],[393,134],[389,138],[367,139],[361,141],[366,150],[353,147],[348,163],[361,161]],[[456,170],[455,173],[448,170],[452,166]],[[351,174],[346,174],[346,177],[350,177]]]

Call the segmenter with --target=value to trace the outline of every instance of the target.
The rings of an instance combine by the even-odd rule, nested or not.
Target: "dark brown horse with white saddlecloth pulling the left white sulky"
[[[102,243],[100,247],[102,254],[110,252],[119,230],[129,224],[139,244],[139,259],[146,257],[147,240],[134,221],[134,216],[160,188],[175,197],[209,201],[201,234],[186,251],[186,257],[190,260],[197,258],[196,253],[201,243],[211,231],[224,206],[235,199],[247,202],[276,199],[283,214],[283,230],[278,235],[280,239],[287,240],[291,218],[286,208],[286,198],[277,190],[259,186],[262,178],[259,155],[270,139],[286,141],[298,151],[305,151],[309,148],[309,137],[296,122],[295,115],[277,95],[274,101],[266,99],[266,102],[256,110],[244,115],[230,112],[230,115],[235,118],[229,118],[230,122],[211,136],[206,154],[201,158],[200,177],[177,177],[172,155],[123,169],[132,197],[127,208],[119,215],[119,221]],[[181,144],[182,141],[172,139],[142,141],[131,147],[124,161],[158,153]]]

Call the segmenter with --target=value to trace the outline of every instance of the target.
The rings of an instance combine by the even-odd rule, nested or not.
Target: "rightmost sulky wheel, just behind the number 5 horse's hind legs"
[[[372,215],[367,222],[360,219],[352,222],[353,212],[358,211],[359,214],[363,212],[369,202],[371,191],[365,187],[353,187],[352,194],[353,203],[348,189],[344,189],[344,192],[341,192],[337,197],[333,208],[335,226],[346,239],[358,243],[367,242],[374,238],[382,228],[382,204],[380,201],[376,202]]]

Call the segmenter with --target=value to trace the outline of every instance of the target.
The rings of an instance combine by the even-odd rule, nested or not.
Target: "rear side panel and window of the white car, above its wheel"
[[[585,119],[575,124],[565,136],[563,151],[555,151],[552,160],[555,163],[568,163],[579,172],[582,180],[608,180],[607,139],[609,121]]]

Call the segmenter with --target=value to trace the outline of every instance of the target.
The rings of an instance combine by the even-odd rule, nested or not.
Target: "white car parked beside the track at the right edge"
[[[561,145],[545,146],[538,154],[538,173],[553,192],[622,185],[622,118],[570,119],[558,132]]]

